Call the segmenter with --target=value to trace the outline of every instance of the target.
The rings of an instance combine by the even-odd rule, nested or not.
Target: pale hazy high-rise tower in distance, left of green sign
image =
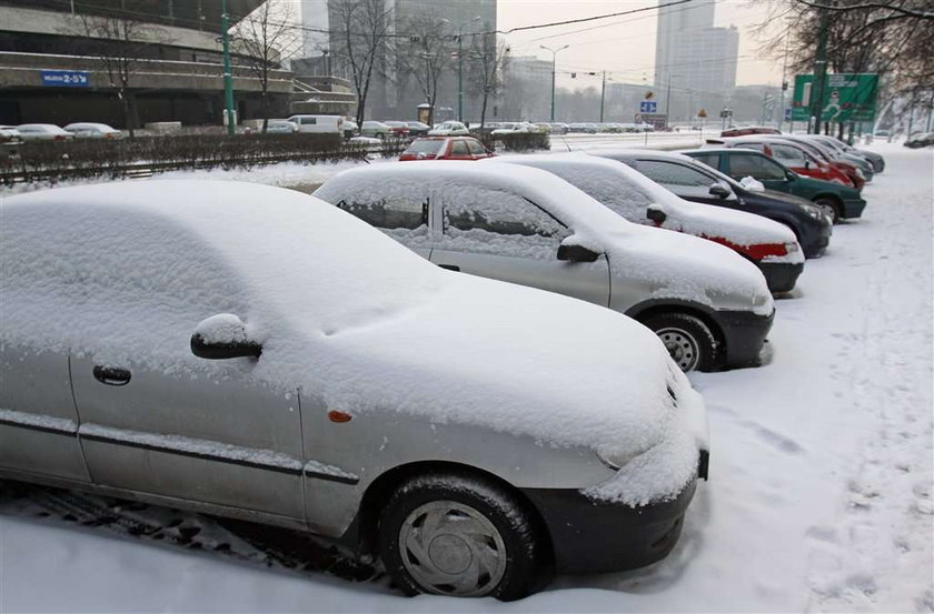
[[[655,90],[658,110],[668,109],[670,121],[690,121],[700,109],[715,117],[736,85],[739,31],[714,28],[714,8],[692,2],[658,11]]]

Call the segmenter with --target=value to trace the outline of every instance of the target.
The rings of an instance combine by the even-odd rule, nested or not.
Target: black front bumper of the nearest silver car
[[[703,475],[706,459],[703,451]],[[523,493],[545,521],[557,572],[605,573],[644,567],[667,556],[696,489],[695,476],[675,499],[639,507],[595,501],[575,489],[523,489]]]

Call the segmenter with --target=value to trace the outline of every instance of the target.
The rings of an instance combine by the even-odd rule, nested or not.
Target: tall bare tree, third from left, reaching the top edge
[[[357,93],[357,125],[362,125],[372,78],[386,74],[391,57],[393,7],[386,0],[331,0],[328,7],[335,62],[347,69]]]

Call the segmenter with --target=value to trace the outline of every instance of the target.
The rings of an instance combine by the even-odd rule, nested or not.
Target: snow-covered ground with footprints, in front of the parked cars
[[[711,481],[665,561],[558,577],[517,603],[406,598],[385,580],[37,519],[7,496],[0,612],[934,611],[934,151],[873,149],[888,165],[865,189],[864,219],[836,227],[778,301],[771,364],[692,375],[709,411]]]

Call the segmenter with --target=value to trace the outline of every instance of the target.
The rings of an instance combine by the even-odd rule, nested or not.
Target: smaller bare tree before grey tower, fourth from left
[[[440,19],[415,17],[400,28],[408,39],[399,42],[398,63],[403,78],[410,77],[418,84],[425,102],[435,107],[438,81],[451,64],[456,36],[446,30]]]

